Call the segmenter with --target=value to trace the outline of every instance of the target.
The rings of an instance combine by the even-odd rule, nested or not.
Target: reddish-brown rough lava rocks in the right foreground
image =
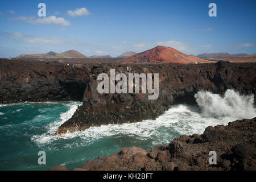
[[[110,156],[88,160],[76,170],[256,170],[256,118],[230,122],[228,126],[209,126],[204,134],[181,135],[150,151],[141,147],[121,148]],[[209,151],[217,154],[210,165]],[[64,170],[63,166],[51,170]]]

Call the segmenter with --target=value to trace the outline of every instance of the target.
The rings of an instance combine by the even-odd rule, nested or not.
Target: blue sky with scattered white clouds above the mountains
[[[46,17],[38,4],[46,4]],[[209,3],[217,17],[210,17]],[[187,54],[256,53],[256,1],[1,1],[0,57],[75,49],[121,55],[168,46]]]

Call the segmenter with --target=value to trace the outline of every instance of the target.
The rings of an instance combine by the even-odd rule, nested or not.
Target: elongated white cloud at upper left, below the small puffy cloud
[[[34,16],[20,16],[17,18],[9,18],[8,20],[22,20],[31,24],[59,24],[61,26],[69,26],[71,24],[68,20],[65,20],[64,18],[61,17],[57,18],[56,16],[48,16],[38,19],[35,19]]]

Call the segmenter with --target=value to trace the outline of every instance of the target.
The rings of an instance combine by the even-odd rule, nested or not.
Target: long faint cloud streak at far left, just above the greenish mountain
[[[53,45],[60,45],[60,44],[72,44],[74,46],[79,46],[79,42],[75,41],[69,41],[62,38],[56,38],[56,37],[46,37],[46,36],[30,36],[30,35],[24,35],[20,34],[19,32],[14,33],[8,33],[8,32],[1,32],[0,35],[4,35],[9,37],[12,40],[17,40],[24,43],[30,43],[30,44],[53,44]]]

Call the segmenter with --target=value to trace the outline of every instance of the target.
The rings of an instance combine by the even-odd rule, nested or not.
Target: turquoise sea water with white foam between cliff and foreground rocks
[[[121,147],[142,146],[149,150],[180,134],[202,134],[207,126],[256,116],[249,103],[253,96],[242,98],[232,94],[221,98],[199,93],[200,107],[176,105],[156,120],[90,127],[63,136],[54,135],[57,127],[72,117],[81,102],[0,105],[0,170],[43,170],[58,165],[73,169],[101,154],[118,152]],[[231,115],[239,107],[230,100],[240,107],[247,105],[248,112]],[[38,164],[39,151],[46,152],[46,165]]]

